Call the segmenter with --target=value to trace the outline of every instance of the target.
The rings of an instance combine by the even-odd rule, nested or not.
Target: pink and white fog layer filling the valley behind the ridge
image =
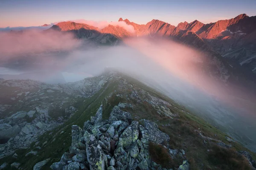
[[[4,62],[25,59],[35,71],[40,68],[40,71],[62,73],[66,82],[98,75],[106,67],[118,69],[156,88],[256,150],[255,113],[247,109],[253,101],[226,93],[218,79],[204,72],[207,56],[170,40],[130,38],[124,42],[125,45],[120,46],[96,47],[86,46],[70,34],[3,34],[0,59]],[[81,45],[85,45],[86,50],[81,50]],[[53,55],[52,51],[67,53]],[[38,53],[41,55],[36,55]],[[12,57],[15,60],[10,60]],[[245,104],[236,107],[240,100]]]

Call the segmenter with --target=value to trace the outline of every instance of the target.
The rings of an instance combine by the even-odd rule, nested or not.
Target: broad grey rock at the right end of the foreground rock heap
[[[150,122],[146,119],[141,119],[140,122],[146,129],[141,131],[143,138],[157,143],[163,143],[164,141],[168,142],[170,140],[170,137],[166,133],[163,133],[158,129],[158,126],[155,122]]]

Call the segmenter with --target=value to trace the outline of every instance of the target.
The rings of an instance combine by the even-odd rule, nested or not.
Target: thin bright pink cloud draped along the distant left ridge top
[[[125,28],[127,31],[129,31],[131,33],[135,32],[134,27],[131,26],[131,25],[127,25],[124,21],[120,21],[120,22],[108,22],[108,21],[96,22],[96,21],[84,20],[84,19],[81,19],[81,20],[67,20],[67,21],[72,21],[72,22],[75,22],[75,23],[83,23],[83,24],[87,24],[87,25],[90,25],[90,26],[97,27],[99,29],[105,28],[108,25],[120,26],[122,28]],[[59,21],[59,22],[55,22],[55,23],[52,23],[52,24],[56,25],[56,24],[61,23],[61,22],[64,22],[64,21]]]

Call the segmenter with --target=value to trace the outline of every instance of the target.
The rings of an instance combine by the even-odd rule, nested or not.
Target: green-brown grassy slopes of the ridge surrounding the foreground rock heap
[[[210,142],[204,144],[203,139],[198,135],[198,133],[195,132],[195,129],[198,130],[198,128],[200,128],[205,136],[220,139],[223,142],[228,143],[225,139],[226,135],[212,125],[209,125],[204,120],[199,119],[192,114],[184,112],[186,111],[186,109],[183,106],[178,105],[163,94],[158,93],[154,89],[149,88],[148,86],[138,82],[135,79],[131,79],[130,77],[125,76],[123,77],[125,79],[128,79],[129,82],[134,85],[134,87],[143,88],[151,95],[157,96],[158,98],[164,99],[167,102],[171,103],[174,106],[173,108],[170,108],[172,113],[178,114],[179,117],[177,119],[170,119],[165,116],[160,116],[147,102],[139,104],[137,101],[128,101],[125,97],[121,98],[116,96],[115,94],[120,93],[125,96],[126,94],[130,94],[131,91],[124,89],[120,91],[120,89],[118,88],[119,82],[117,80],[111,80],[95,95],[85,100],[81,99],[81,101],[77,103],[77,106],[79,106],[79,111],[77,111],[67,122],[55,128],[52,133],[45,133],[40,137],[39,146],[41,146],[42,149],[38,150],[38,156],[25,157],[25,154],[34,148],[34,143],[32,143],[31,148],[27,150],[17,150],[17,154],[19,155],[18,159],[13,159],[12,156],[8,156],[0,160],[0,164],[5,161],[8,163],[17,161],[21,163],[21,167],[23,167],[24,169],[32,169],[32,167],[38,161],[51,158],[51,161],[44,167],[45,170],[49,169],[50,164],[59,161],[62,154],[69,150],[71,144],[71,125],[79,125],[80,127],[83,127],[84,122],[90,119],[90,116],[95,115],[96,110],[99,108],[103,101],[103,118],[107,119],[113,106],[117,105],[119,102],[131,103],[134,106],[134,110],[127,109],[127,111],[132,113],[134,120],[144,118],[157,122],[160,129],[170,136],[170,146],[173,147],[173,149],[184,149],[186,151],[186,156],[192,166],[192,169],[215,169],[215,162],[209,160],[211,155],[209,155],[209,153],[207,153],[206,151],[207,149],[213,148],[214,145]],[[111,93],[113,93],[112,97],[108,99],[108,102],[105,102],[105,100],[103,99],[105,99],[105,97]],[[169,124],[169,126],[163,126],[166,124]],[[64,133],[60,134],[61,131],[64,131]],[[45,141],[48,141],[48,144],[43,147],[42,144]],[[237,150],[247,150],[239,143],[232,144]],[[256,154],[252,153],[252,155],[254,159],[256,159]],[[181,163],[181,161],[181,159],[177,158],[173,161],[172,166],[177,167]],[[10,169],[10,167],[7,167],[7,169]]]

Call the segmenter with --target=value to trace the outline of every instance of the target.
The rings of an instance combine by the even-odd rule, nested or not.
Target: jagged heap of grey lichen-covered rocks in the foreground
[[[96,116],[84,122],[83,129],[72,126],[70,153],[64,153],[61,161],[52,164],[52,170],[147,170],[151,167],[165,170],[151,160],[148,151],[149,142],[163,144],[170,139],[156,123],[146,119],[132,121],[131,114],[118,106],[113,107],[109,119],[105,120],[102,110],[101,105]],[[180,165],[179,170],[183,169],[189,170],[187,161]]]

